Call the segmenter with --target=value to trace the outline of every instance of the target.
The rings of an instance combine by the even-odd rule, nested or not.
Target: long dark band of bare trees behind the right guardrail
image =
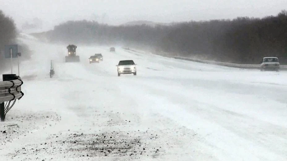
[[[45,35],[53,42],[122,45],[180,56],[258,64],[264,56],[287,63],[287,11],[264,18],[238,17],[172,25],[109,26],[95,21],[67,21]]]

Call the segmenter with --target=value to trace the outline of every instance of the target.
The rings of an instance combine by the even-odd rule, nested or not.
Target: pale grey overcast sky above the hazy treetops
[[[285,8],[284,8],[285,7]],[[178,22],[264,17],[287,10],[287,0],[0,0],[0,10],[17,27],[33,19],[45,29],[66,20],[96,20],[119,25],[134,20]]]

